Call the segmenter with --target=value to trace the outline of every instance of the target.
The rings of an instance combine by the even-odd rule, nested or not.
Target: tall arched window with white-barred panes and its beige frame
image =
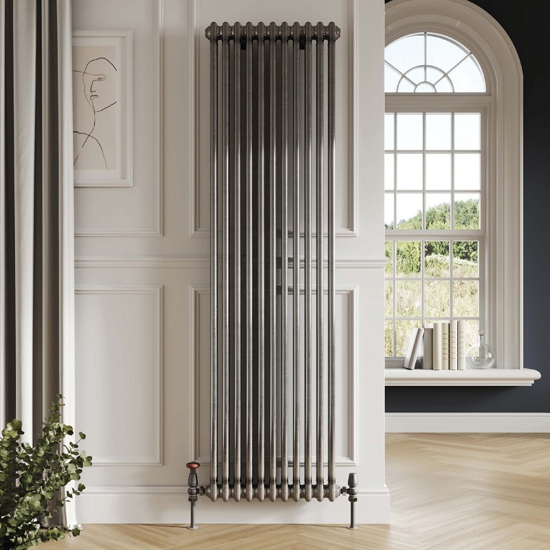
[[[490,39],[505,39],[501,59]],[[514,71],[500,78],[506,56]],[[393,0],[384,63],[386,364],[405,355],[414,327],[462,319],[467,347],[483,328],[498,366],[520,368],[516,52],[498,23],[469,2]],[[503,133],[499,118],[515,135]],[[508,161],[514,173],[503,171]],[[501,280],[506,270],[509,286]]]

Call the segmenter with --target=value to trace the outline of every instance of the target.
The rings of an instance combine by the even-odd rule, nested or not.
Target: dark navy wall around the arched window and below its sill
[[[386,388],[387,412],[550,412],[550,47],[540,0],[474,0],[516,46],[523,67],[524,366],[540,371],[522,388]],[[544,234],[548,232],[548,237]],[[548,240],[547,240],[548,239]]]

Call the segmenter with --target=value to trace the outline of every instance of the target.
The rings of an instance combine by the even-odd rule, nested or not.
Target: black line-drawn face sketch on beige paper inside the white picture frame
[[[116,168],[115,106],[118,101],[117,69],[106,56],[94,57],[83,69],[73,69],[74,94],[83,94],[74,120],[74,167],[109,170]],[[85,111],[88,112],[85,112]]]

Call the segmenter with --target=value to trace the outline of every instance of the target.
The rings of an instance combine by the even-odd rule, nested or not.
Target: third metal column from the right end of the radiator
[[[312,404],[312,363],[311,363],[311,23],[305,24],[305,120],[304,120],[304,324],[305,324],[305,500],[311,500],[311,423]]]

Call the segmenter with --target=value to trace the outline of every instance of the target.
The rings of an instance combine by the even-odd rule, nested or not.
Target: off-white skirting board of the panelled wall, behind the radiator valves
[[[87,487],[76,500],[82,523],[172,523],[189,522],[187,487]],[[201,523],[349,523],[350,504],[346,496],[336,502],[310,503],[280,500],[248,503],[206,497],[197,502],[197,525]],[[369,487],[358,494],[355,505],[358,523],[389,523],[388,487]]]

